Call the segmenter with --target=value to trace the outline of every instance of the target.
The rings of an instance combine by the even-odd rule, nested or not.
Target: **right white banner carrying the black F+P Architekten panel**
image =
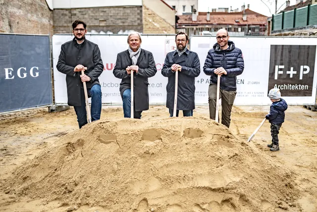
[[[242,50],[244,71],[237,76],[235,105],[270,105],[268,91],[277,87],[290,105],[316,104],[317,38],[230,37]],[[201,66],[215,37],[192,36],[191,50]],[[196,104],[208,103],[209,76],[196,79]]]

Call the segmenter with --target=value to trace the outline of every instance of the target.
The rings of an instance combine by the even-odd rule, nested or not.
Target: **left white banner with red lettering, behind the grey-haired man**
[[[119,92],[121,79],[114,77],[112,71],[117,54],[127,50],[127,35],[86,35],[87,40],[98,44],[104,63],[104,72],[99,81],[102,87],[102,103],[122,104]],[[56,104],[67,104],[66,75],[57,71],[56,64],[63,43],[72,40],[71,35],[53,35],[53,69],[54,93]],[[175,49],[174,35],[144,35],[141,48],[153,53],[158,72],[149,78],[150,103],[164,104],[166,102],[167,77],[160,70],[164,65],[165,56]]]

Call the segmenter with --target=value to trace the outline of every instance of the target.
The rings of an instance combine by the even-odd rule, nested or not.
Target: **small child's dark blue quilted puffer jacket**
[[[269,114],[267,114],[265,118],[273,125],[280,125],[284,122],[285,110],[287,110],[287,103],[284,99],[280,99],[278,102],[271,104]]]

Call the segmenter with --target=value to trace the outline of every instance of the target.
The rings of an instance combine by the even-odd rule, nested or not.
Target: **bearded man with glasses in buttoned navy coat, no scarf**
[[[183,111],[183,116],[193,116],[195,109],[195,77],[200,74],[200,62],[197,53],[187,49],[188,36],[178,32],[175,37],[176,50],[166,55],[161,70],[163,76],[168,77],[166,85],[166,107],[170,117],[173,116],[175,95],[175,72],[178,72],[177,108]]]

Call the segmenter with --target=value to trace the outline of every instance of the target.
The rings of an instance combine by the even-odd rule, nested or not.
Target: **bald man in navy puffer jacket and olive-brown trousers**
[[[211,76],[208,89],[209,115],[215,120],[217,75],[220,75],[221,124],[229,128],[231,109],[237,94],[237,75],[243,72],[244,61],[242,51],[229,41],[227,30],[217,31],[216,39],[217,43],[209,50],[204,65],[204,72]]]

